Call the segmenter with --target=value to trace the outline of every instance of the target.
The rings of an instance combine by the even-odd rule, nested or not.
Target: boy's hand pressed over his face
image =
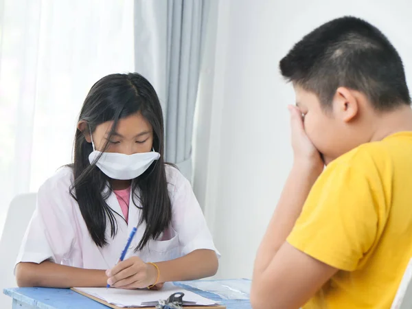
[[[290,133],[295,164],[322,172],[324,163],[321,154],[314,147],[304,128],[304,120],[297,106],[288,106],[290,112]]]

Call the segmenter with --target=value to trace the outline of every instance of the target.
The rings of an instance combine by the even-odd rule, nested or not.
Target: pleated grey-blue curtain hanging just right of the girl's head
[[[192,179],[192,134],[205,32],[203,0],[135,0],[135,69],[155,87],[165,159]]]

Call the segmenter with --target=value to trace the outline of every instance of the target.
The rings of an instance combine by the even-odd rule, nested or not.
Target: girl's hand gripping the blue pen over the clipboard
[[[106,271],[107,284],[115,288],[147,288],[157,280],[157,268],[133,256]],[[157,289],[163,284],[157,284]],[[155,288],[153,287],[153,288]]]

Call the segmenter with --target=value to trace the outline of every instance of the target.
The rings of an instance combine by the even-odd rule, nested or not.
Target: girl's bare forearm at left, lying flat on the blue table
[[[21,262],[16,265],[16,281],[19,287],[102,287],[106,286],[107,276],[101,270],[71,267],[49,261],[40,264]]]

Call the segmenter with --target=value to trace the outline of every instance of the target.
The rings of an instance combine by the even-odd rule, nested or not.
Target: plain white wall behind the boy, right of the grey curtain
[[[321,23],[351,14],[400,52],[412,90],[412,2],[213,0],[197,110],[194,190],[222,253],[217,277],[251,277],[255,251],[290,169],[278,62]]]

